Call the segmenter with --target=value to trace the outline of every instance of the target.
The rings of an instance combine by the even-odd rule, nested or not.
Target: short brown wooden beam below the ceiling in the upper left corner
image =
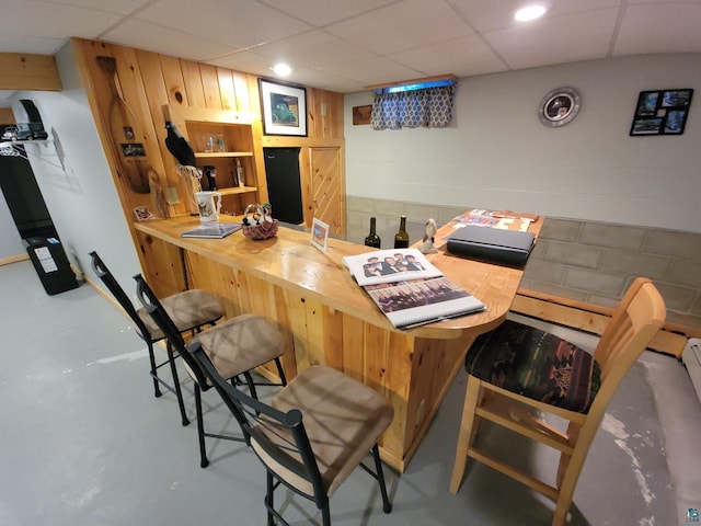
[[[0,53],[0,90],[61,91],[56,60],[49,55]]]

